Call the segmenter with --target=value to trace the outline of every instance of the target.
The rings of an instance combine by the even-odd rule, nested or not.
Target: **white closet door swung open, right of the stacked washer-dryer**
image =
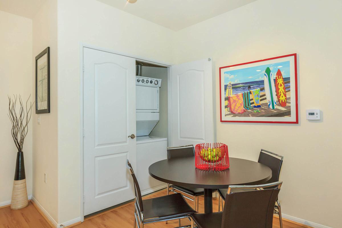
[[[171,67],[172,146],[213,142],[212,62]]]

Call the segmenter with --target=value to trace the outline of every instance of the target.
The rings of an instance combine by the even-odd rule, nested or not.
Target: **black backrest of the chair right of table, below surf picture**
[[[283,156],[277,155],[271,151],[260,150],[258,162],[268,166],[272,170],[272,177],[267,183],[279,181],[279,174],[282,165]]]

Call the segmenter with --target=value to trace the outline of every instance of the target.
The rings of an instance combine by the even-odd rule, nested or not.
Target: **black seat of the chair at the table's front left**
[[[181,193],[161,196],[152,199],[143,200],[144,220],[168,219],[182,215],[196,213],[192,207],[187,204]]]

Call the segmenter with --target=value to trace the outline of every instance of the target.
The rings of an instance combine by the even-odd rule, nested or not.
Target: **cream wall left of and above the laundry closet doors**
[[[159,61],[173,31],[96,0],[58,0],[58,221],[80,217],[80,42]]]

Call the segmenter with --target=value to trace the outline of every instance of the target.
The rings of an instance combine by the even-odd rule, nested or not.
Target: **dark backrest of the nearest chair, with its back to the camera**
[[[274,205],[282,182],[254,186],[229,186],[222,216],[222,228],[272,228]],[[274,187],[276,186],[276,187]],[[231,192],[232,188],[264,188]],[[229,193],[228,193],[229,192]]]

